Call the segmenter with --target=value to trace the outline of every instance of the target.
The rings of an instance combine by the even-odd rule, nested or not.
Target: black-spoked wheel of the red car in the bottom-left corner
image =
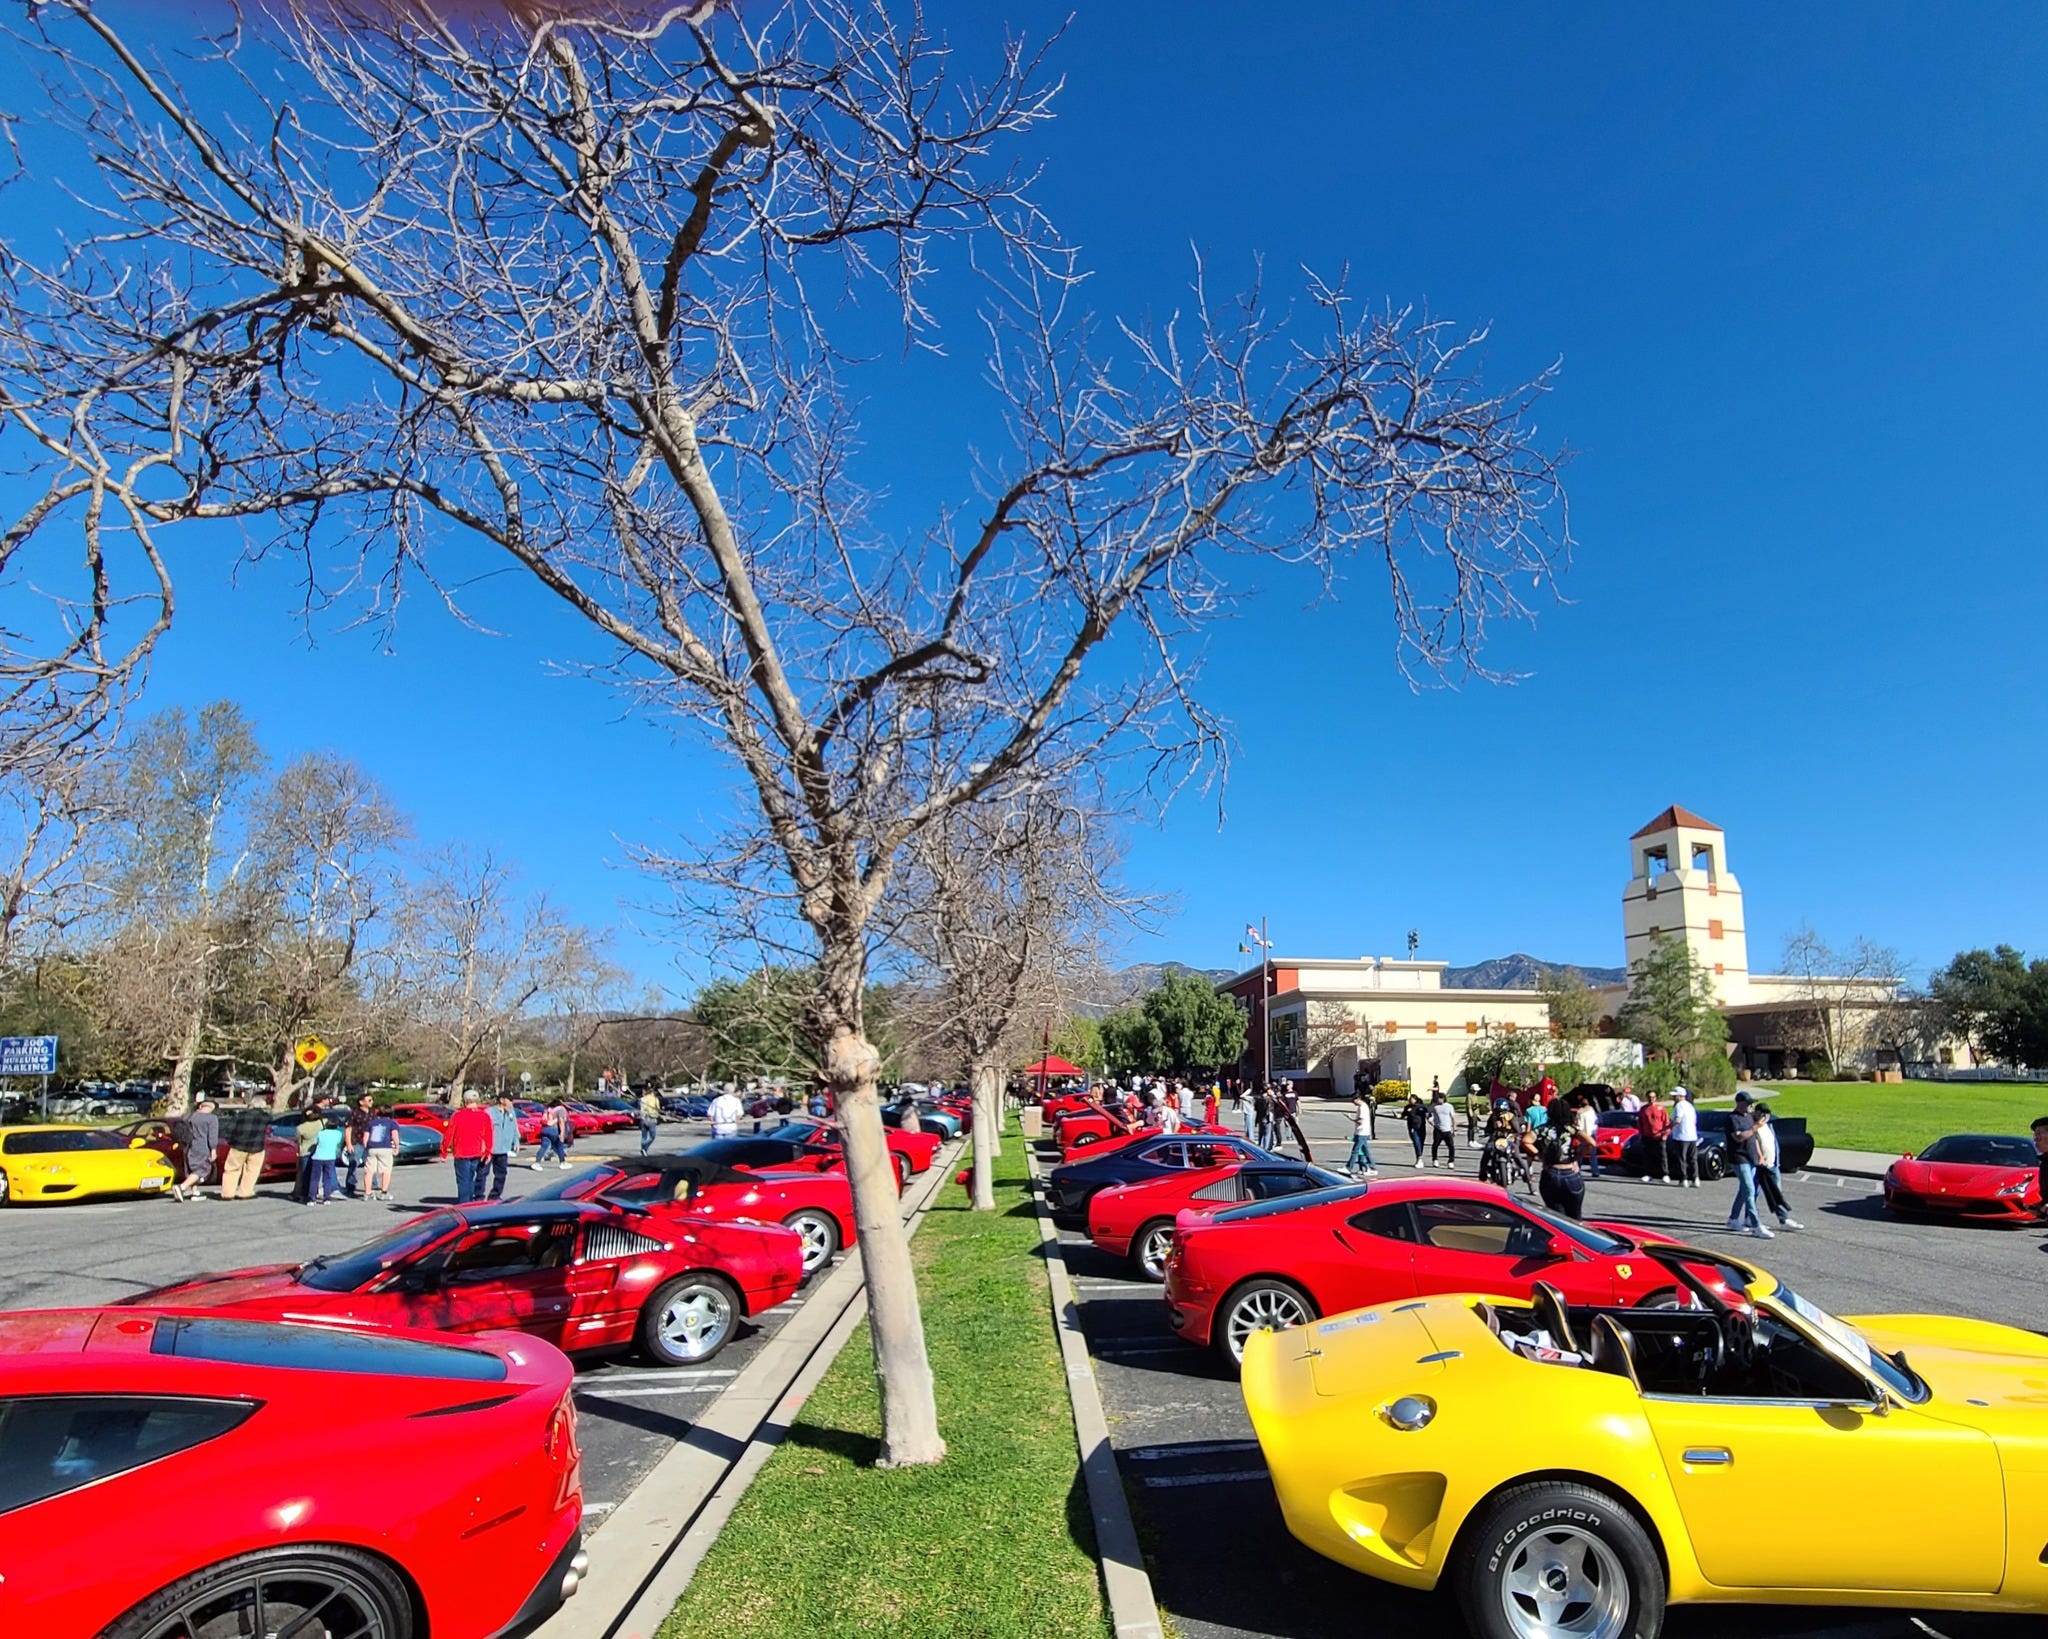
[[[213,1639],[242,1633],[252,1590],[262,1590],[262,1610],[279,1619],[268,1631],[297,1629],[311,1614],[324,1631],[362,1639],[414,1639],[412,1592],[383,1559],[344,1547],[285,1547],[238,1553],[219,1565],[160,1588],[100,1639]],[[326,1598],[326,1604],[322,1604]],[[209,1610],[217,1610],[209,1616]],[[317,1612],[317,1614],[313,1614]]]

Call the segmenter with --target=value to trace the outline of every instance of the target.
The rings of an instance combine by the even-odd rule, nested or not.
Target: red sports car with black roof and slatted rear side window
[[[264,1319],[434,1332],[530,1332],[571,1354],[639,1344],[664,1367],[709,1360],[741,1315],[803,1285],[803,1242],[756,1223],[653,1223],[575,1201],[494,1201],[408,1219],[309,1264],[201,1274],[135,1303]]]

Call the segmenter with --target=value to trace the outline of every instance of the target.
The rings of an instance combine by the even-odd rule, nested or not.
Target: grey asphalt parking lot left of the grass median
[[[664,1123],[664,1151],[711,1137],[709,1123]],[[575,1162],[639,1151],[639,1133],[580,1139]],[[530,1151],[524,1151],[530,1155]],[[506,1196],[539,1188],[561,1174],[514,1166]],[[254,1201],[199,1205],[170,1199],[109,1201],[68,1207],[0,1211],[0,1309],[53,1309],[113,1303],[211,1270],[248,1264],[305,1262],[381,1235],[393,1223],[432,1207],[455,1205],[449,1162],[401,1166],[389,1205],[338,1201],[295,1207],[289,1182],[258,1186]],[[809,1287],[805,1289],[809,1291]],[[578,1412],[584,1442],[584,1498],[592,1516],[610,1512],[690,1430],[694,1412],[711,1401],[754,1358],[803,1301],[756,1315],[705,1367],[653,1369],[633,1358],[584,1364]]]

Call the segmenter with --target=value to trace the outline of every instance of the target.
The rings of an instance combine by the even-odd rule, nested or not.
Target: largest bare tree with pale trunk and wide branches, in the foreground
[[[322,4],[172,70],[88,0],[37,6],[33,115],[100,215],[0,260],[0,402],[49,484],[8,539],[244,520],[309,602],[379,617],[500,555],[725,748],[754,811],[680,863],[766,891],[815,965],[881,1461],[938,1461],[864,1016],[903,848],[1104,758],[1159,793],[1214,770],[1190,656],[1237,555],[1364,555],[1399,664],[1479,670],[1563,551],[1546,381],[1485,391],[1483,332],[1341,283],[1198,272],[1157,326],[1096,324],[1028,195],[1055,82],[1022,41],[969,76],[889,0],[606,18]],[[860,477],[858,297],[936,344],[940,272],[1010,436],[901,541]]]

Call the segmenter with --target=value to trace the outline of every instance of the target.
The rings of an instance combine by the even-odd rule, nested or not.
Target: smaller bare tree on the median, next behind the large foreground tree
[[[1108,822],[1044,789],[965,807],[911,842],[903,942],[928,965],[924,1033],[973,1088],[973,1205],[995,1207],[1008,1067],[1073,1004],[1112,924],[1141,910],[1114,883]]]

